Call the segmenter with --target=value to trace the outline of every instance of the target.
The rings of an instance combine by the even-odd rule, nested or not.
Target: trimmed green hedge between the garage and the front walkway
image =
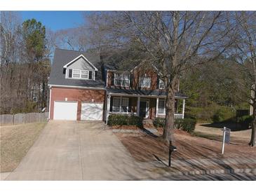
[[[142,127],[142,118],[139,116],[128,116],[125,114],[111,114],[107,125],[136,125],[138,128]]]

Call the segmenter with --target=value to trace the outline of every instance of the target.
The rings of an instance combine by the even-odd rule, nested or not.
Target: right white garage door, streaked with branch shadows
[[[82,103],[81,120],[102,120],[102,103]]]

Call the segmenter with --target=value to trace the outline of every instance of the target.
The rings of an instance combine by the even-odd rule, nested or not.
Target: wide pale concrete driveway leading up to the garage
[[[142,167],[102,122],[49,121],[6,180],[139,179]]]

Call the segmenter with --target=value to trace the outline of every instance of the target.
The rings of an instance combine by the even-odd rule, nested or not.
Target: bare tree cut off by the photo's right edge
[[[247,102],[253,107],[252,135],[249,142],[250,146],[256,145],[256,13],[253,11],[239,11],[232,14],[232,22],[236,24],[236,44],[231,49],[232,58],[241,67],[241,74],[238,84],[247,88],[243,92]],[[241,89],[242,90],[242,89]],[[250,94],[250,91],[252,94]]]

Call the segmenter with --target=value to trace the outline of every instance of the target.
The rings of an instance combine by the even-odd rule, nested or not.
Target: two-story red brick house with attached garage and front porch
[[[98,55],[56,49],[48,85],[50,119],[107,121],[109,114],[154,119],[166,114],[166,92],[154,66],[119,71]],[[186,98],[177,82],[175,118],[184,118]]]

